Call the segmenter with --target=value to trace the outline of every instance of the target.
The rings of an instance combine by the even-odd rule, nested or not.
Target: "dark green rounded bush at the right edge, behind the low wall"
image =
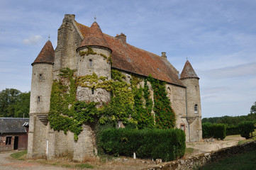
[[[238,124],[238,128],[240,130],[241,137],[245,137],[246,139],[250,138],[250,133],[255,129],[256,121],[243,121]]]

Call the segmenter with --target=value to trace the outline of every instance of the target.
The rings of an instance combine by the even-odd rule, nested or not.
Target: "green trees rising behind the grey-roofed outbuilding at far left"
[[[17,89],[0,92],[0,118],[29,118],[30,91]]]

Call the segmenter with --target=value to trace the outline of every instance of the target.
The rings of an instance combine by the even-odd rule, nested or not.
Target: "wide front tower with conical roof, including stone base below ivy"
[[[98,78],[106,77],[106,80],[111,79],[111,62],[109,61],[111,52],[101,32],[101,28],[99,28],[98,23],[94,22],[81,45],[77,48],[77,77],[94,75]],[[101,79],[99,81],[103,80]],[[106,89],[99,87],[89,88],[81,84],[77,86],[78,101],[107,103],[110,99],[111,94]],[[93,127],[83,125],[83,131],[79,134],[77,142],[74,142],[73,159],[82,161],[84,157],[94,156],[96,153],[96,140]]]

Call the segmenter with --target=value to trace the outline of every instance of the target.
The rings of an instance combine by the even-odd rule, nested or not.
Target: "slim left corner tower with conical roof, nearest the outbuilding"
[[[28,157],[42,157],[46,150],[48,113],[52,90],[52,65],[55,52],[50,40],[31,64],[33,66],[30,94]],[[40,142],[40,145],[35,145]]]

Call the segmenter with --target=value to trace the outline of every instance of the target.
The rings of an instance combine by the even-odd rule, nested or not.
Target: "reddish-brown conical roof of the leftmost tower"
[[[32,63],[50,63],[54,62],[54,49],[52,47],[52,42],[48,40],[43,46],[43,49],[40,51],[38,57],[36,57],[35,61]]]

